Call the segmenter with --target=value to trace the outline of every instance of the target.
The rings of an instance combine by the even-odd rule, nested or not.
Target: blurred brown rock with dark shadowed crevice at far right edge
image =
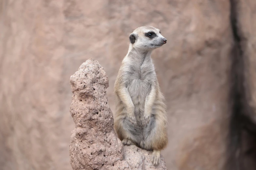
[[[231,169],[256,169],[256,1],[232,0],[234,37]],[[234,77],[234,75],[236,75]],[[235,132],[236,131],[236,132]],[[231,162],[232,162],[231,161]]]

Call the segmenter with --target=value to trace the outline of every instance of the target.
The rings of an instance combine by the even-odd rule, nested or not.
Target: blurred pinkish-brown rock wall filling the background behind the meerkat
[[[254,0],[0,0],[0,167],[71,170],[70,76],[96,59],[109,77],[114,111],[113,86],[128,35],[152,25],[168,40],[152,55],[168,106],[167,168],[226,170],[233,163],[227,147],[232,104],[239,102],[230,99],[235,58],[244,64],[241,107],[255,120],[255,11]],[[238,151],[234,159],[254,159],[255,152],[242,150],[246,155]]]

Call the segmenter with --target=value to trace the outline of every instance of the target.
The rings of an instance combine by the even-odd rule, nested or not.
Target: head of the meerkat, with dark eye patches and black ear
[[[161,35],[159,29],[143,26],[135,29],[129,36],[133,48],[156,49],[166,44],[167,39]]]

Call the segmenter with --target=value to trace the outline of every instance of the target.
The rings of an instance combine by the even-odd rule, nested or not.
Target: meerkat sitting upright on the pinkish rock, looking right
[[[151,53],[167,39],[152,26],[135,29],[129,39],[114,85],[114,130],[124,145],[153,150],[152,163],[157,165],[168,142],[167,116]]]

